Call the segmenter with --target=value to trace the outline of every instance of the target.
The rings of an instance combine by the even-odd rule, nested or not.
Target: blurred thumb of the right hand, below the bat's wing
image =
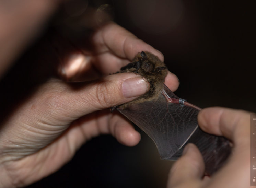
[[[187,144],[183,155],[174,163],[168,176],[167,187],[199,187],[205,165],[194,144]]]

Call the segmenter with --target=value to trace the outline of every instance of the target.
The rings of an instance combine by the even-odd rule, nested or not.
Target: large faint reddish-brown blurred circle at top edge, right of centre
[[[141,30],[163,34],[173,30],[182,20],[183,3],[170,1],[127,1],[127,11],[133,23]]]

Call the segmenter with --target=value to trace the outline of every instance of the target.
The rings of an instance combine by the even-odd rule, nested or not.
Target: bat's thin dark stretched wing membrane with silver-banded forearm
[[[187,102],[180,103],[165,85],[156,99],[117,109],[151,137],[164,160],[176,160],[187,143],[194,143],[203,155],[206,173],[212,174],[231,152],[227,139],[199,128],[197,115],[200,108]]]

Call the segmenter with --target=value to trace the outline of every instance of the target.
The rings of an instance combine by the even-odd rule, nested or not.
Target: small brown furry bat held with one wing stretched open
[[[202,153],[205,174],[212,175],[230,155],[230,142],[200,129],[197,115],[201,108],[177,97],[164,85],[167,71],[157,56],[144,51],[138,53],[120,72],[140,74],[148,80],[150,89],[139,98],[114,109],[148,134],[163,160],[177,160],[185,145],[194,143]]]

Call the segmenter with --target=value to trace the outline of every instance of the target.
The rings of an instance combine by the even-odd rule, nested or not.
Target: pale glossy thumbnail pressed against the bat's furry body
[[[122,83],[123,95],[126,98],[137,97],[146,93],[149,85],[142,78],[127,79]]]

